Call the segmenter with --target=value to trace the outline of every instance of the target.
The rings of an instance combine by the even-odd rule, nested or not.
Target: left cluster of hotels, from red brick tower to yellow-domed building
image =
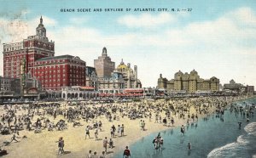
[[[61,91],[61,87],[87,85],[102,93],[119,93],[125,88],[142,87],[137,79],[137,65],[132,70],[131,64],[125,65],[122,60],[115,68],[115,63],[107,54],[107,48],[103,48],[102,56],[94,60],[95,68],[86,67],[86,62],[78,56],[55,56],[54,48],[55,42],[49,42],[46,37],[41,16],[35,36],[29,36],[18,44],[3,45],[3,77],[20,78],[21,93],[27,90],[27,76],[38,80],[43,91]]]

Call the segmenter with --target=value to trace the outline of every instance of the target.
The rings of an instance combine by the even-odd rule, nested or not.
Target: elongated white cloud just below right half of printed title
[[[125,15],[119,18],[118,22],[130,28],[154,28],[156,26],[165,25],[175,21],[172,14],[140,14],[140,15]]]

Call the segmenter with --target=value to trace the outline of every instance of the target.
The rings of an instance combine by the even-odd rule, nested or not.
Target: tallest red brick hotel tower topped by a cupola
[[[55,42],[49,42],[43,19],[36,29],[36,35],[22,42],[3,44],[3,76],[20,78],[20,65],[26,59],[26,73],[34,76],[34,64],[37,59],[55,55]]]

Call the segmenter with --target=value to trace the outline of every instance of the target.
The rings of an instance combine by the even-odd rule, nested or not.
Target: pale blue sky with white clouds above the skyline
[[[2,0],[0,76],[3,43],[35,35],[41,15],[55,56],[79,56],[93,66],[106,47],[116,66],[121,59],[137,65],[143,87],[156,87],[160,74],[171,80],[194,69],[221,84],[234,79],[256,87],[255,0]]]

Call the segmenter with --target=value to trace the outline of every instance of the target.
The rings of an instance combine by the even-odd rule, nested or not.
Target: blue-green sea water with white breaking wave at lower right
[[[256,104],[256,98],[237,102],[236,105]],[[201,158],[201,157],[256,157],[256,110],[250,121],[235,111],[224,111],[223,119],[215,115],[200,119],[186,127],[182,136],[180,127],[161,132],[164,138],[162,150],[154,150],[153,139],[158,133],[152,133],[131,144],[131,157],[134,158]],[[239,128],[238,122],[241,122]],[[191,150],[188,150],[188,144]],[[124,149],[126,144],[124,143]],[[119,152],[114,157],[123,157]]]

